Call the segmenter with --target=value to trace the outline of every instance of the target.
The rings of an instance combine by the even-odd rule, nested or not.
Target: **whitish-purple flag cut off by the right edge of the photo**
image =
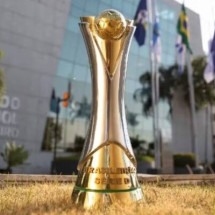
[[[207,83],[210,83],[215,79],[215,32],[210,45],[210,52],[208,54],[207,61],[207,66],[204,71],[204,79]]]

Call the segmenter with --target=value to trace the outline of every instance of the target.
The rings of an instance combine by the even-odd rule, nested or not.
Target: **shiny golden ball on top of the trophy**
[[[95,19],[97,34],[104,40],[118,40],[125,32],[127,22],[117,10],[105,10]]]

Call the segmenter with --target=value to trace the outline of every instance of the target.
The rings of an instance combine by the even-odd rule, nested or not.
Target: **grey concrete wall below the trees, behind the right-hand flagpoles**
[[[210,114],[210,113],[209,113]],[[177,92],[173,99],[173,150],[175,153],[192,152],[192,125],[190,109]],[[207,109],[196,112],[196,143],[200,162],[213,161],[211,120]]]

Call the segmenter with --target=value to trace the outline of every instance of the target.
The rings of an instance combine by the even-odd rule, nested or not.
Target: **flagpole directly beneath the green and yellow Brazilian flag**
[[[189,96],[190,96],[190,111],[191,111],[191,149],[195,154],[195,167],[198,166],[198,146],[197,146],[197,138],[196,138],[196,110],[195,110],[195,94],[194,94],[194,86],[193,86],[193,75],[192,75],[192,67],[191,61],[192,58],[190,53],[187,53],[187,64],[188,64],[188,86],[189,86]]]

